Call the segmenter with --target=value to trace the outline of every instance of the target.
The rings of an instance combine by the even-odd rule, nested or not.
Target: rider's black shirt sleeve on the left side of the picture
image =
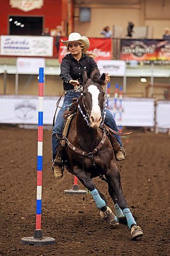
[[[60,78],[66,83],[68,83],[69,80],[74,80],[70,76],[70,67],[71,67],[70,60],[68,59],[68,57],[64,57],[60,65],[60,69],[61,69]]]

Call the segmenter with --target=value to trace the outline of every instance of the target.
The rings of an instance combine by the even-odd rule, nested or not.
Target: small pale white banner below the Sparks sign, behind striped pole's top
[[[44,58],[17,58],[16,70],[18,74],[39,74],[39,68],[45,68]]]

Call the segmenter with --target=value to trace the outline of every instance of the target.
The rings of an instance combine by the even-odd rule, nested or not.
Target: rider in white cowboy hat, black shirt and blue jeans
[[[89,39],[86,36],[81,36],[79,33],[71,33],[68,36],[68,40],[63,41],[63,44],[67,47],[69,54],[66,54],[61,62],[61,73],[60,78],[63,80],[63,87],[65,90],[65,96],[63,101],[63,107],[69,105],[72,102],[72,98],[79,98],[80,92],[76,91],[75,88],[83,82],[83,72],[86,70],[87,76],[95,69],[98,69],[95,60],[89,56],[86,51],[89,48]],[[100,74],[99,74],[100,76]],[[110,81],[110,76],[106,74],[106,83]],[[54,175],[56,178],[62,178],[62,164],[61,164],[61,145],[60,140],[57,138],[62,137],[62,130],[64,125],[64,111],[65,108],[61,108],[53,127],[52,134],[52,151],[53,151],[53,165]],[[104,123],[114,131],[118,131],[116,123],[113,119],[111,112],[106,109],[106,118]],[[56,136],[57,135],[57,136]],[[122,148],[122,142],[120,136],[115,135],[120,147]],[[117,161],[125,159],[124,151],[120,149],[115,152]]]

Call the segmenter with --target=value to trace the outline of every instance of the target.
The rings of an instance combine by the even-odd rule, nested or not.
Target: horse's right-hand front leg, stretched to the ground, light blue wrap
[[[134,220],[130,209],[128,208],[128,204],[124,198],[123,191],[122,191],[122,186],[120,182],[120,173],[116,164],[113,161],[111,163],[110,168],[108,168],[107,170],[106,178],[111,182],[114,194],[116,195],[116,198],[117,198],[117,203],[119,207],[122,209],[127,219],[128,226],[131,229],[132,239],[143,236],[143,231],[139,226],[137,226],[137,223]]]

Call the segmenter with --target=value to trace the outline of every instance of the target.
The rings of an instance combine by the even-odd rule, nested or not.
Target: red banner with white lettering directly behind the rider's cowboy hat
[[[67,37],[62,37],[63,40],[67,40]],[[91,53],[95,55],[95,61],[100,59],[111,59],[112,57],[112,50],[111,50],[111,38],[89,38],[90,40],[90,47],[87,53]],[[61,63],[62,58],[69,53],[67,48],[60,40],[59,45],[59,62]]]

